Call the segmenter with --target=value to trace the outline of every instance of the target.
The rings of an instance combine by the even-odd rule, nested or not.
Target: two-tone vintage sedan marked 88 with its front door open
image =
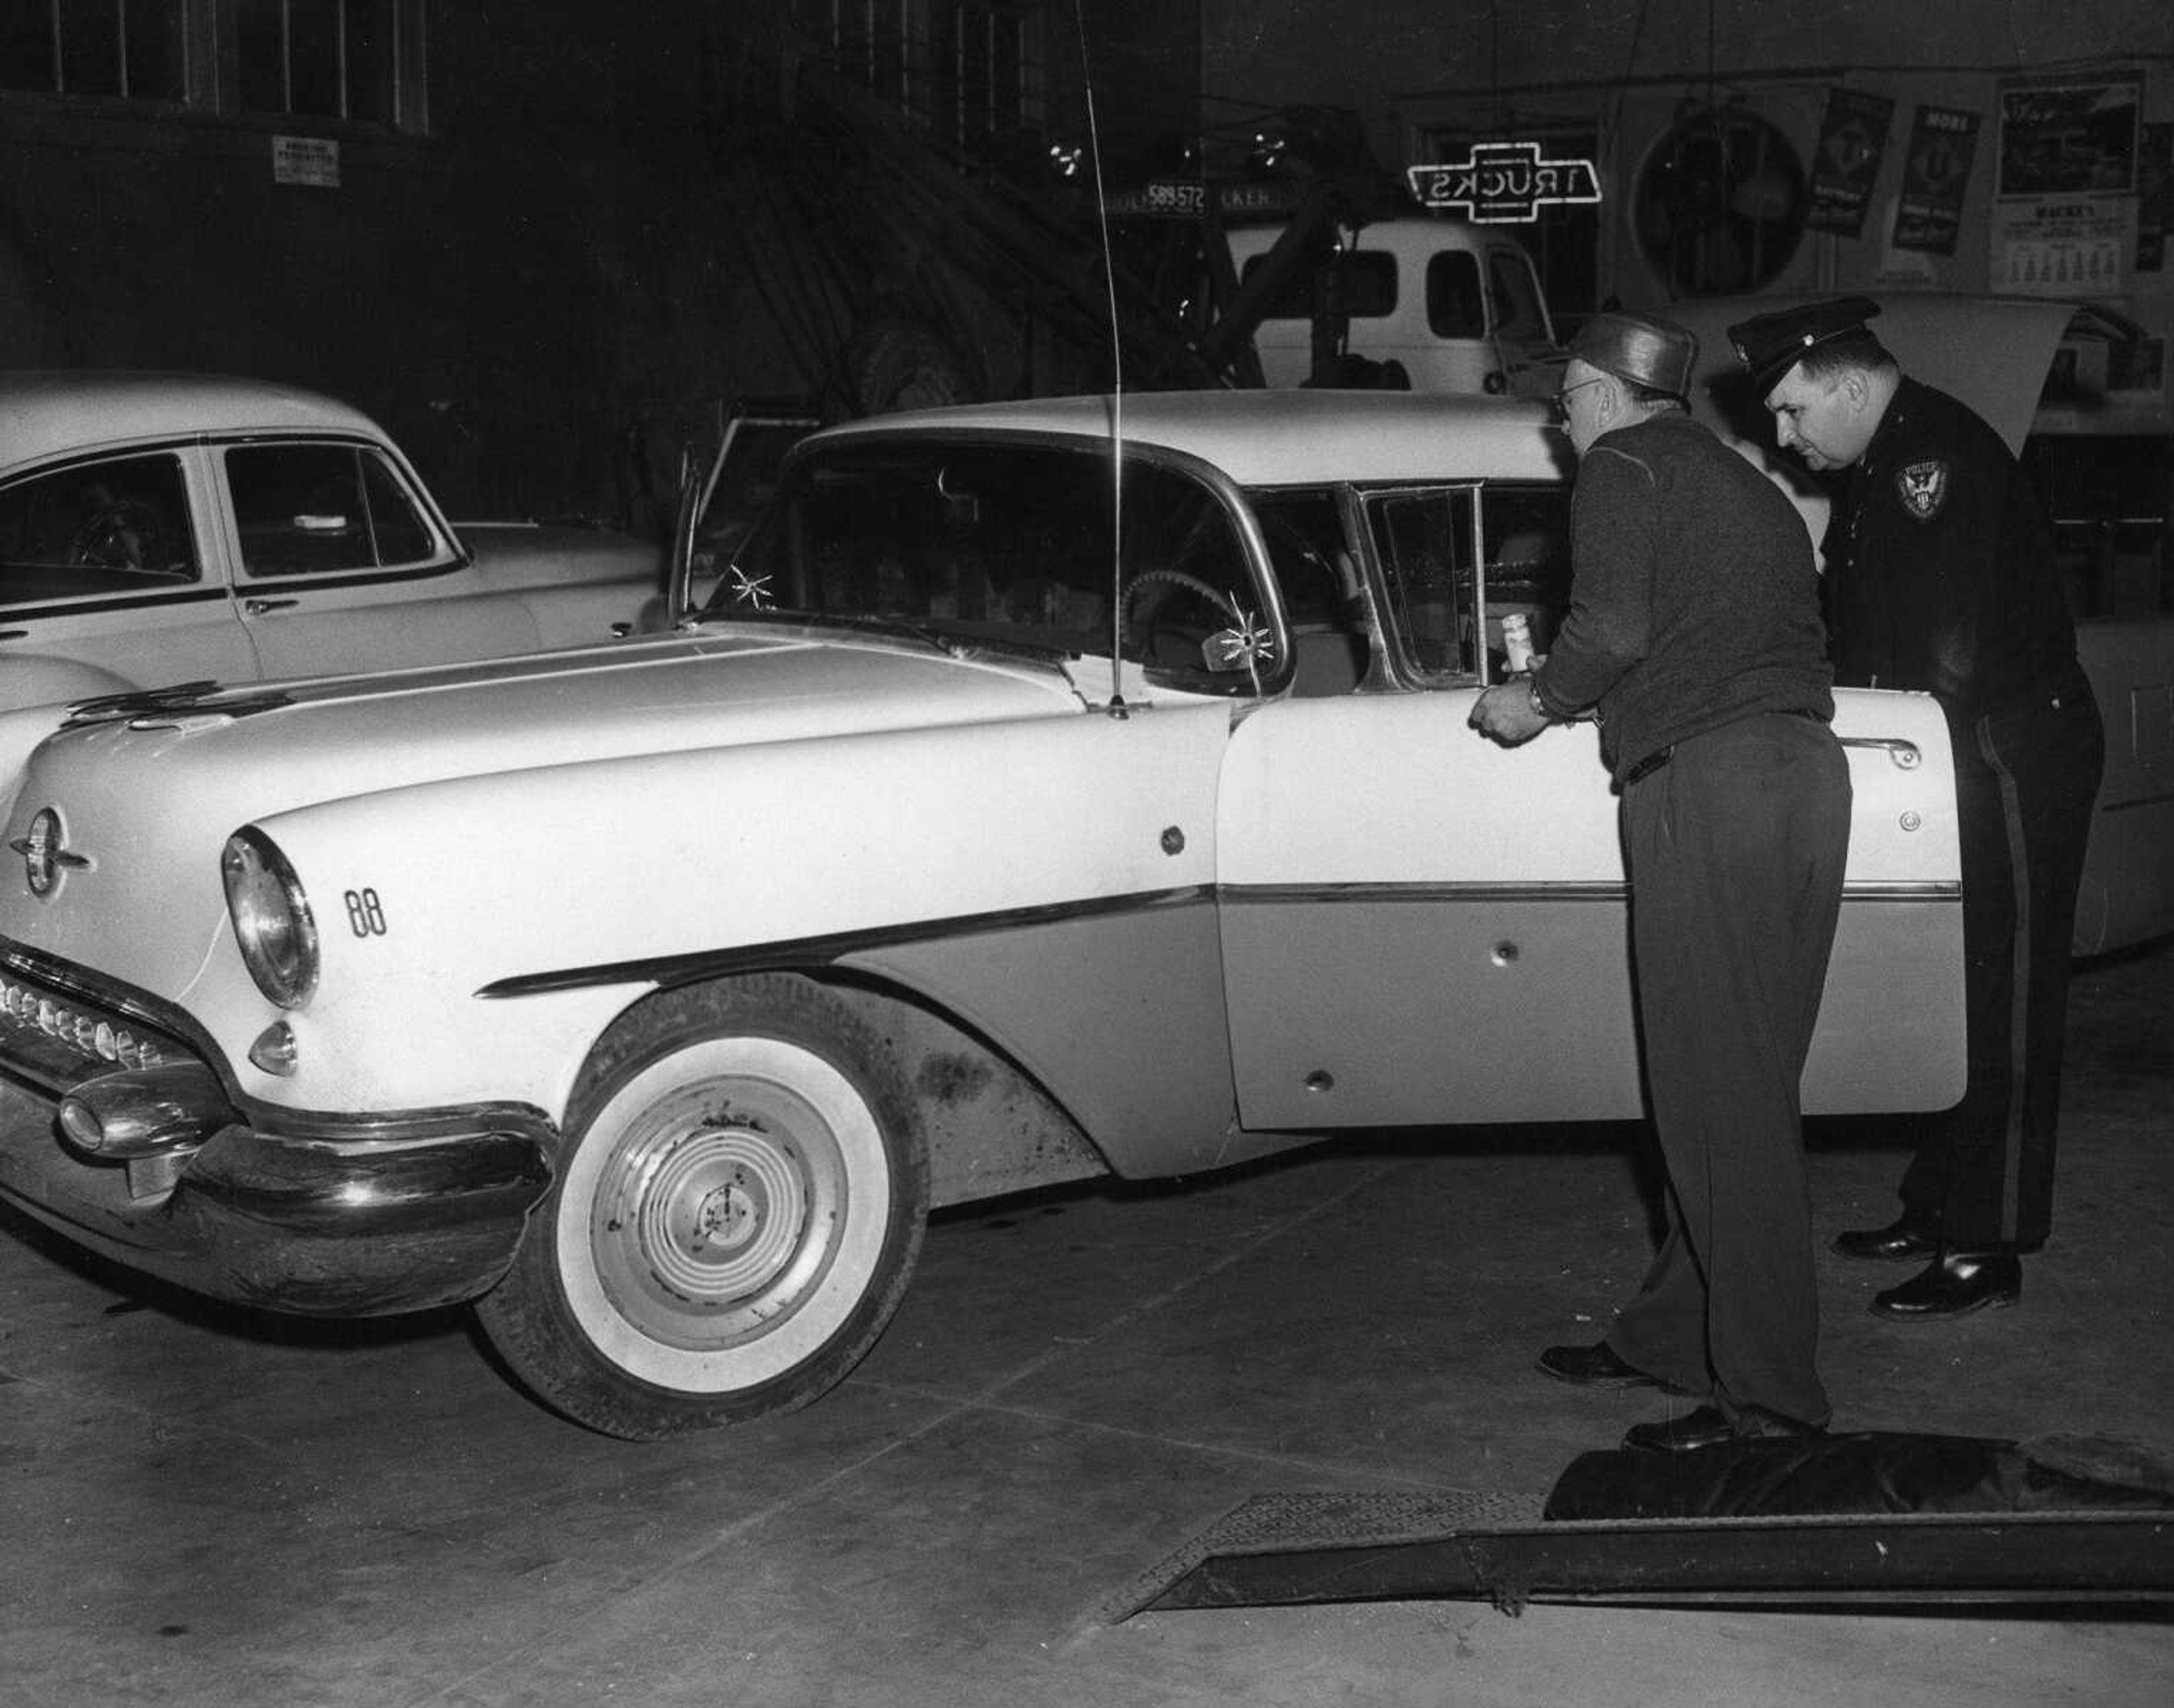
[[[85,703],[0,836],[0,1192],[250,1305],[472,1299],[659,1436],[839,1382],[930,1205],[1635,1116],[1596,733],[1465,727],[1570,472],[1515,400],[894,416],[676,633]],[[1839,729],[1807,1103],[1946,1105],[1948,738]]]

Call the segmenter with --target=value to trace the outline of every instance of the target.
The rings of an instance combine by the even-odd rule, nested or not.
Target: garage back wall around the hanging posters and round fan
[[[1296,0],[1204,0],[1202,28],[1211,94],[1348,102],[1365,113],[1389,161],[1409,161],[1441,135],[1594,137],[1609,202],[1591,239],[1594,302],[1574,309],[1670,298],[1667,268],[1633,231],[1630,189],[1687,107],[1765,117],[1809,165],[1831,89],[1894,102],[1863,235],[1807,237],[1772,289],[1998,289],[1994,115],[2004,76],[2139,72],[2144,120],[2174,120],[2174,9],[2152,0],[1841,0],[1800,9],[1757,0],[1374,0],[1333,30]],[[1898,252],[1887,242],[1920,104],[1983,115],[1952,257]],[[1741,194],[1754,198],[1757,187]],[[2163,270],[2126,279],[2120,307],[2165,333],[2174,318],[2170,279]]]

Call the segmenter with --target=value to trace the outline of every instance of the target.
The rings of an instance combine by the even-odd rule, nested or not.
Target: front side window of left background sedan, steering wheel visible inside
[[[139,594],[200,577],[174,455],[76,463],[0,487],[0,603]]]

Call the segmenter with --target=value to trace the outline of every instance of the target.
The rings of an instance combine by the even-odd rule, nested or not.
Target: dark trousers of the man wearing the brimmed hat
[[[1724,1412],[1826,1423],[1800,1084],[1841,914],[1850,770],[1763,714],[1626,785],[1630,949],[1667,1238],[1615,1353]]]

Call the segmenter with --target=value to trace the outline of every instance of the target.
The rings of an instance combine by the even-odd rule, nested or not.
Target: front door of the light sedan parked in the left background
[[[187,446],[0,485],[4,705],[259,674],[204,496],[202,453]]]

